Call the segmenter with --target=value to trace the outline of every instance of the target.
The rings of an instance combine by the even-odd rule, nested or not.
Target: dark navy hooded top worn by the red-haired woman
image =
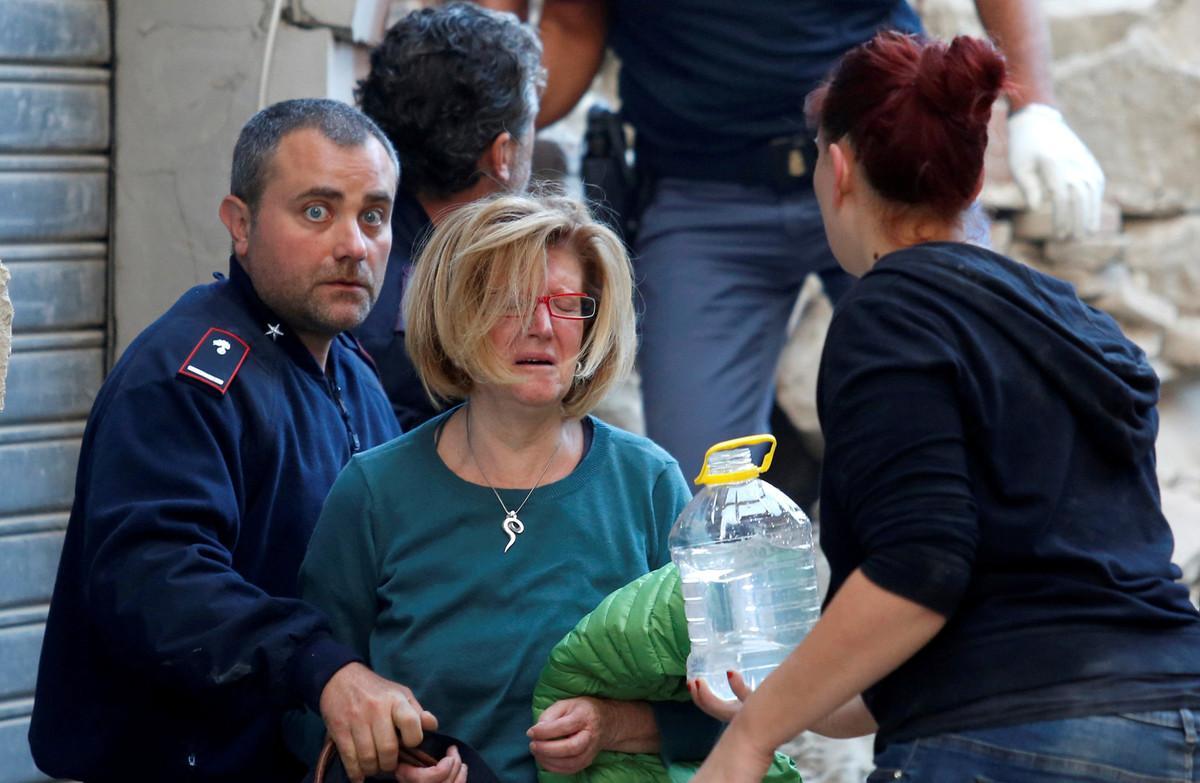
[[[830,594],[860,568],[948,618],[864,693],[881,743],[1194,704],[1158,379],[1109,316],[988,250],[918,245],[838,304],[817,398]]]

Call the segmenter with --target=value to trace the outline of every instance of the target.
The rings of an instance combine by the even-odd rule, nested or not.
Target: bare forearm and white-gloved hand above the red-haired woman
[[[1056,239],[1100,227],[1104,172],[1054,107],[1050,43],[1037,0],[976,0],[988,35],[1008,59],[1019,90],[1010,96],[1008,165],[1031,210],[1050,203]]]

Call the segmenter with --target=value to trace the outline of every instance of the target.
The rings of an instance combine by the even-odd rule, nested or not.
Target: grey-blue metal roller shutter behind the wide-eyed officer
[[[107,0],[4,0],[0,258],[13,354],[0,413],[0,783],[44,779],[25,739],[47,604],[108,319]]]

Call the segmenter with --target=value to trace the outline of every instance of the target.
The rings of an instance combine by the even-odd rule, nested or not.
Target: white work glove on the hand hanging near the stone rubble
[[[1099,229],[1104,172],[1058,109],[1030,103],[1008,118],[1008,165],[1031,210],[1049,192],[1055,238]]]

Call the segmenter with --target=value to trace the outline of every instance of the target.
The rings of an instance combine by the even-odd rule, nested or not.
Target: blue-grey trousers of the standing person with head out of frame
[[[646,434],[700,472],[718,441],[769,431],[775,366],[804,279],[851,277],[811,190],[662,179],[634,257]]]

